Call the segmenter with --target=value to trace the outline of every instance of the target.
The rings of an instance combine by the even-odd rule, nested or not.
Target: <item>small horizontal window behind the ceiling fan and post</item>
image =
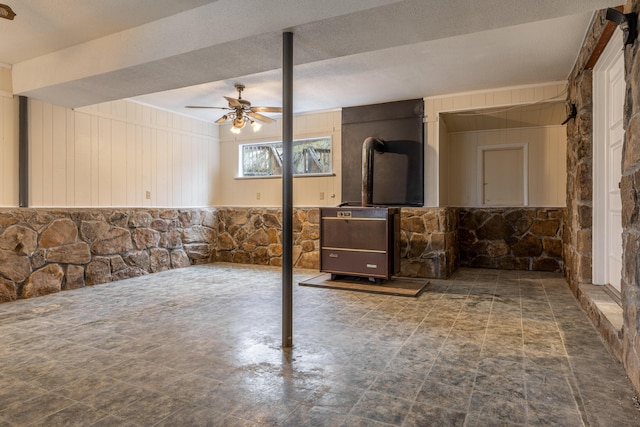
[[[331,137],[293,141],[293,174],[331,174]],[[240,176],[282,175],[282,141],[240,145]]]

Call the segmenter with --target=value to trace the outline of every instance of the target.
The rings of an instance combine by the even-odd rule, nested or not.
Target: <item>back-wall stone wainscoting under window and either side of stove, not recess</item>
[[[455,209],[402,208],[400,275],[446,278],[457,254]],[[282,265],[280,209],[219,208],[217,261]],[[320,267],[317,208],[295,208],[293,265]]]

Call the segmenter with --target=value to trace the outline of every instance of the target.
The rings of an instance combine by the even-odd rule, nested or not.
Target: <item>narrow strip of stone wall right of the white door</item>
[[[640,14],[640,0],[628,3]],[[622,361],[640,391],[640,40],[625,48],[627,96],[622,149]]]

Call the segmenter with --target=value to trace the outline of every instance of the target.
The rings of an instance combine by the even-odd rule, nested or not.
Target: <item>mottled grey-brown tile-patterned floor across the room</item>
[[[189,267],[0,305],[5,426],[637,426],[559,275],[461,269],[419,298]]]

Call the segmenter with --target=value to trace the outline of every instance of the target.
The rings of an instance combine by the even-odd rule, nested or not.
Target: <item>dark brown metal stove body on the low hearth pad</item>
[[[320,271],[389,280],[400,270],[399,233],[399,208],[320,208]]]

